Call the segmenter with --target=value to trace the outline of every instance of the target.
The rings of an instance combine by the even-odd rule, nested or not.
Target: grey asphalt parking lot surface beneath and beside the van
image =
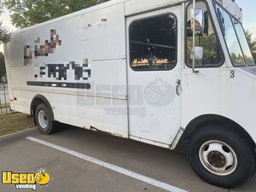
[[[238,189],[207,184],[190,169],[180,150],[68,127],[51,136],[37,130],[0,137],[0,170],[37,172],[52,180],[38,191],[54,192],[253,192],[256,177]],[[1,184],[0,191],[17,191]],[[21,190],[24,191],[24,190]]]

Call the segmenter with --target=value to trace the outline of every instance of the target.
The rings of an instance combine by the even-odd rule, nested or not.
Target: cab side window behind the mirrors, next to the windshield
[[[211,16],[208,12],[206,3],[196,3],[196,8],[203,10],[201,15],[202,22],[195,21],[195,46],[203,48],[203,57],[201,61],[195,61],[195,67],[219,67],[224,56],[220,44],[218,43],[217,34],[214,30]],[[187,49],[186,63],[189,67],[192,66],[192,48],[193,48],[193,28],[191,22],[192,3],[187,9]]]

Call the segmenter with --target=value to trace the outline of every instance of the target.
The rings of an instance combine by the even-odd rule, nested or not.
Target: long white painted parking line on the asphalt
[[[175,186],[172,186],[168,183],[163,183],[163,182],[160,182],[158,180],[155,180],[154,178],[143,176],[141,174],[138,174],[137,172],[131,172],[131,171],[129,171],[125,168],[122,168],[120,166],[114,166],[114,165],[109,164],[107,162],[104,162],[102,160],[97,160],[97,159],[95,159],[93,157],[90,157],[88,155],[80,154],[79,152],[70,150],[68,148],[63,148],[60,145],[55,145],[54,143],[45,142],[44,140],[41,140],[41,139],[38,139],[38,138],[35,138],[35,137],[26,137],[26,139],[28,139],[32,142],[35,142],[35,143],[43,144],[45,146],[48,146],[49,148],[55,148],[59,151],[67,153],[67,154],[72,154],[73,156],[79,157],[82,160],[90,161],[91,163],[94,163],[94,164],[99,165],[99,166],[106,167],[106,168],[108,168],[108,169],[110,169],[114,172],[119,172],[123,175],[133,177],[133,178],[137,178],[140,181],[143,181],[145,183],[149,183],[149,184],[154,185],[155,187],[158,187],[160,189],[165,189],[165,190],[171,191],[171,192],[188,192],[186,190],[179,189]]]

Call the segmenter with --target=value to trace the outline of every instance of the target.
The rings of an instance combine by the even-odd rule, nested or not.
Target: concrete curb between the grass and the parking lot
[[[11,143],[14,142],[15,140],[22,139],[24,137],[31,136],[37,133],[39,133],[39,131],[36,127],[23,131],[18,131],[15,133],[10,133],[9,135],[0,137],[0,145],[3,145],[3,143]]]

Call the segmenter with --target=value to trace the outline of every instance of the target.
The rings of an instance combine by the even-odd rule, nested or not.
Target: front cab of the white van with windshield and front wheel
[[[241,172],[255,170],[256,129],[253,117],[256,115],[256,66],[241,24],[242,11],[235,1],[196,3],[195,14],[199,19],[195,22],[195,46],[199,46],[202,53],[198,52],[195,69],[191,70],[193,37],[188,13],[192,5],[187,6],[186,54],[181,85],[182,122],[185,127],[191,128],[185,131],[190,140],[188,151],[197,151],[196,154],[188,153],[189,161],[192,165],[201,163],[201,166],[192,167],[208,182],[224,187],[234,186],[235,179],[232,178],[232,181],[231,176],[235,172],[239,169],[243,170]],[[197,118],[193,119],[192,116]],[[224,136],[227,138],[220,139]],[[201,143],[196,142],[197,139]],[[239,149],[227,144],[229,139],[239,146],[241,139],[253,149],[252,161],[245,164],[254,166],[238,165],[246,157],[236,154],[235,151]],[[194,148],[195,145],[197,147]],[[207,170],[210,175],[207,172],[202,174],[202,170]]]

